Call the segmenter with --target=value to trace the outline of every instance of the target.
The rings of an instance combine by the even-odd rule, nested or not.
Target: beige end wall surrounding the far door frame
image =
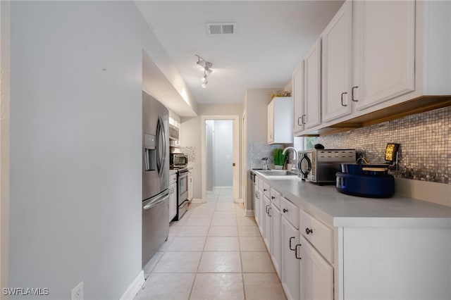
[[[193,197],[195,199],[202,199],[202,159],[201,159],[201,115],[239,115],[240,120],[242,117],[242,105],[241,104],[199,104],[197,106],[198,117],[196,118],[181,118],[180,124],[180,146],[190,147],[192,149],[196,161],[191,161],[190,166],[193,167]],[[241,141],[241,137],[240,137]],[[241,144],[240,144],[240,156],[241,156]],[[240,164],[242,163],[242,157],[240,157]],[[242,176],[240,176],[240,182],[242,182]],[[241,185],[240,197],[241,193]]]

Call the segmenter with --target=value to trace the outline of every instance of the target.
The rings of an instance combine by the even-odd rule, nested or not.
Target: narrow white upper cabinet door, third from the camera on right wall
[[[304,128],[321,124],[321,39],[304,59]]]

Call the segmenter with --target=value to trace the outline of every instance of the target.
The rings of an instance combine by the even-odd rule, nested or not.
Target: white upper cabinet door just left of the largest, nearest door
[[[335,14],[322,43],[322,118],[328,122],[352,113],[352,1],[346,1]]]

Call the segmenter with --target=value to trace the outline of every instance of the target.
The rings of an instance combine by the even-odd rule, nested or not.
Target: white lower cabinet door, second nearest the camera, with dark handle
[[[282,217],[280,220],[281,280],[289,300],[299,299],[299,261],[295,257],[297,244],[299,244],[299,231]]]

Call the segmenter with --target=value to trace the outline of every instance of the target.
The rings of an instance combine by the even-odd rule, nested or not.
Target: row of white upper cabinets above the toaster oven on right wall
[[[297,127],[296,135],[325,134],[450,105],[449,98],[436,96],[451,94],[451,1],[345,1],[321,35],[317,119],[308,107],[314,76],[309,65],[304,58],[304,126]]]

